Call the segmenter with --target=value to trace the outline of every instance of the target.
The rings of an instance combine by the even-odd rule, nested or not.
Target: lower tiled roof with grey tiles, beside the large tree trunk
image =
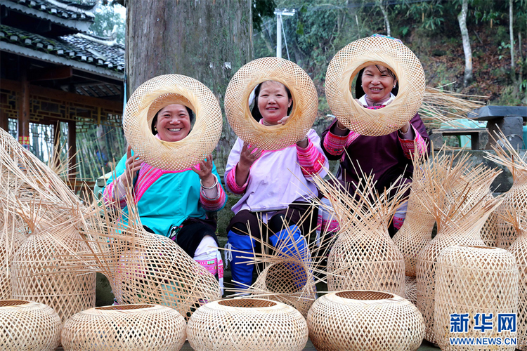
[[[37,58],[47,53],[57,59],[67,59],[68,64],[73,67],[76,66],[75,62],[79,62],[124,74],[124,46],[117,44],[115,39],[104,39],[80,33],[51,39],[18,28],[0,25],[0,48],[13,51],[13,49],[6,49],[8,45],[2,46],[2,43],[38,51],[41,54],[34,52],[32,55]]]

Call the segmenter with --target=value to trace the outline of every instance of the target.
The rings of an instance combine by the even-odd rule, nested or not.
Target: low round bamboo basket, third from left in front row
[[[271,300],[218,300],[198,308],[187,325],[197,351],[300,351],[308,340],[306,319]]]

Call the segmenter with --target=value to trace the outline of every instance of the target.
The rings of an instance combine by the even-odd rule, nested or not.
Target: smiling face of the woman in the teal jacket
[[[157,114],[157,135],[163,141],[179,141],[190,133],[190,116],[183,105],[172,104],[163,107]]]

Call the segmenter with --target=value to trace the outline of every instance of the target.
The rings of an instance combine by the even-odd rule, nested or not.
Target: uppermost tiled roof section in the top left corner
[[[0,4],[35,18],[86,31],[95,18],[90,10],[96,6],[97,1],[0,0]]]

